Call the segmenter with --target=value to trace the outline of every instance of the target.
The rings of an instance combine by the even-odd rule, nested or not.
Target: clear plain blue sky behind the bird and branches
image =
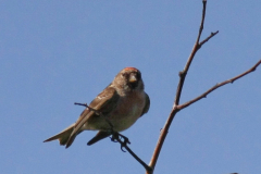
[[[181,102],[261,59],[261,1],[208,2],[202,38]],[[109,138],[69,149],[42,141],[78,119],[126,66],[142,73],[150,111],[123,132],[149,162],[172,109],[178,72],[195,44],[201,0],[2,0],[0,173],[136,174],[142,166]],[[261,67],[181,111],[156,174],[261,173]]]

